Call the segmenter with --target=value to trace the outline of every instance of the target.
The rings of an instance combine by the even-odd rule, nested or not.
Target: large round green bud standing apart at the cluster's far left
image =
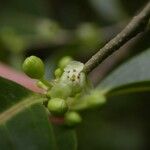
[[[40,79],[44,76],[44,63],[36,56],[27,57],[23,62],[22,68],[31,78]]]

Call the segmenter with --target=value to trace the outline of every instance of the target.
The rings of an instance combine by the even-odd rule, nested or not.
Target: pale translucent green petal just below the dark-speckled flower
[[[72,89],[66,83],[59,82],[54,85],[49,91],[51,98],[64,98],[66,99],[71,95]]]

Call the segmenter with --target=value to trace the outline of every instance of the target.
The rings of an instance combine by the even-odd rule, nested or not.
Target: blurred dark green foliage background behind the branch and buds
[[[21,71],[25,57],[46,63],[46,77],[70,55],[86,62],[148,0],[5,0],[0,4],[0,62]],[[124,60],[150,47],[150,31],[137,36],[90,74],[94,85]],[[150,149],[149,93],[113,97],[83,113],[79,150]]]

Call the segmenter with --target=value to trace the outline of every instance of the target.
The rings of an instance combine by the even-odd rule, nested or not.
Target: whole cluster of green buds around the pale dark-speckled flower
[[[64,124],[76,126],[82,120],[79,111],[102,105],[106,100],[103,93],[93,90],[84,72],[84,64],[66,56],[58,63],[55,78],[44,79],[43,61],[30,56],[23,63],[23,71],[31,78],[37,79],[37,86],[45,90],[46,108],[56,117],[64,117]]]

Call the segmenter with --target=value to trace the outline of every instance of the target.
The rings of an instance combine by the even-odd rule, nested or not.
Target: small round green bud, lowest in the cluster
[[[64,121],[67,126],[74,127],[81,123],[82,118],[77,112],[72,111],[65,114]]]

